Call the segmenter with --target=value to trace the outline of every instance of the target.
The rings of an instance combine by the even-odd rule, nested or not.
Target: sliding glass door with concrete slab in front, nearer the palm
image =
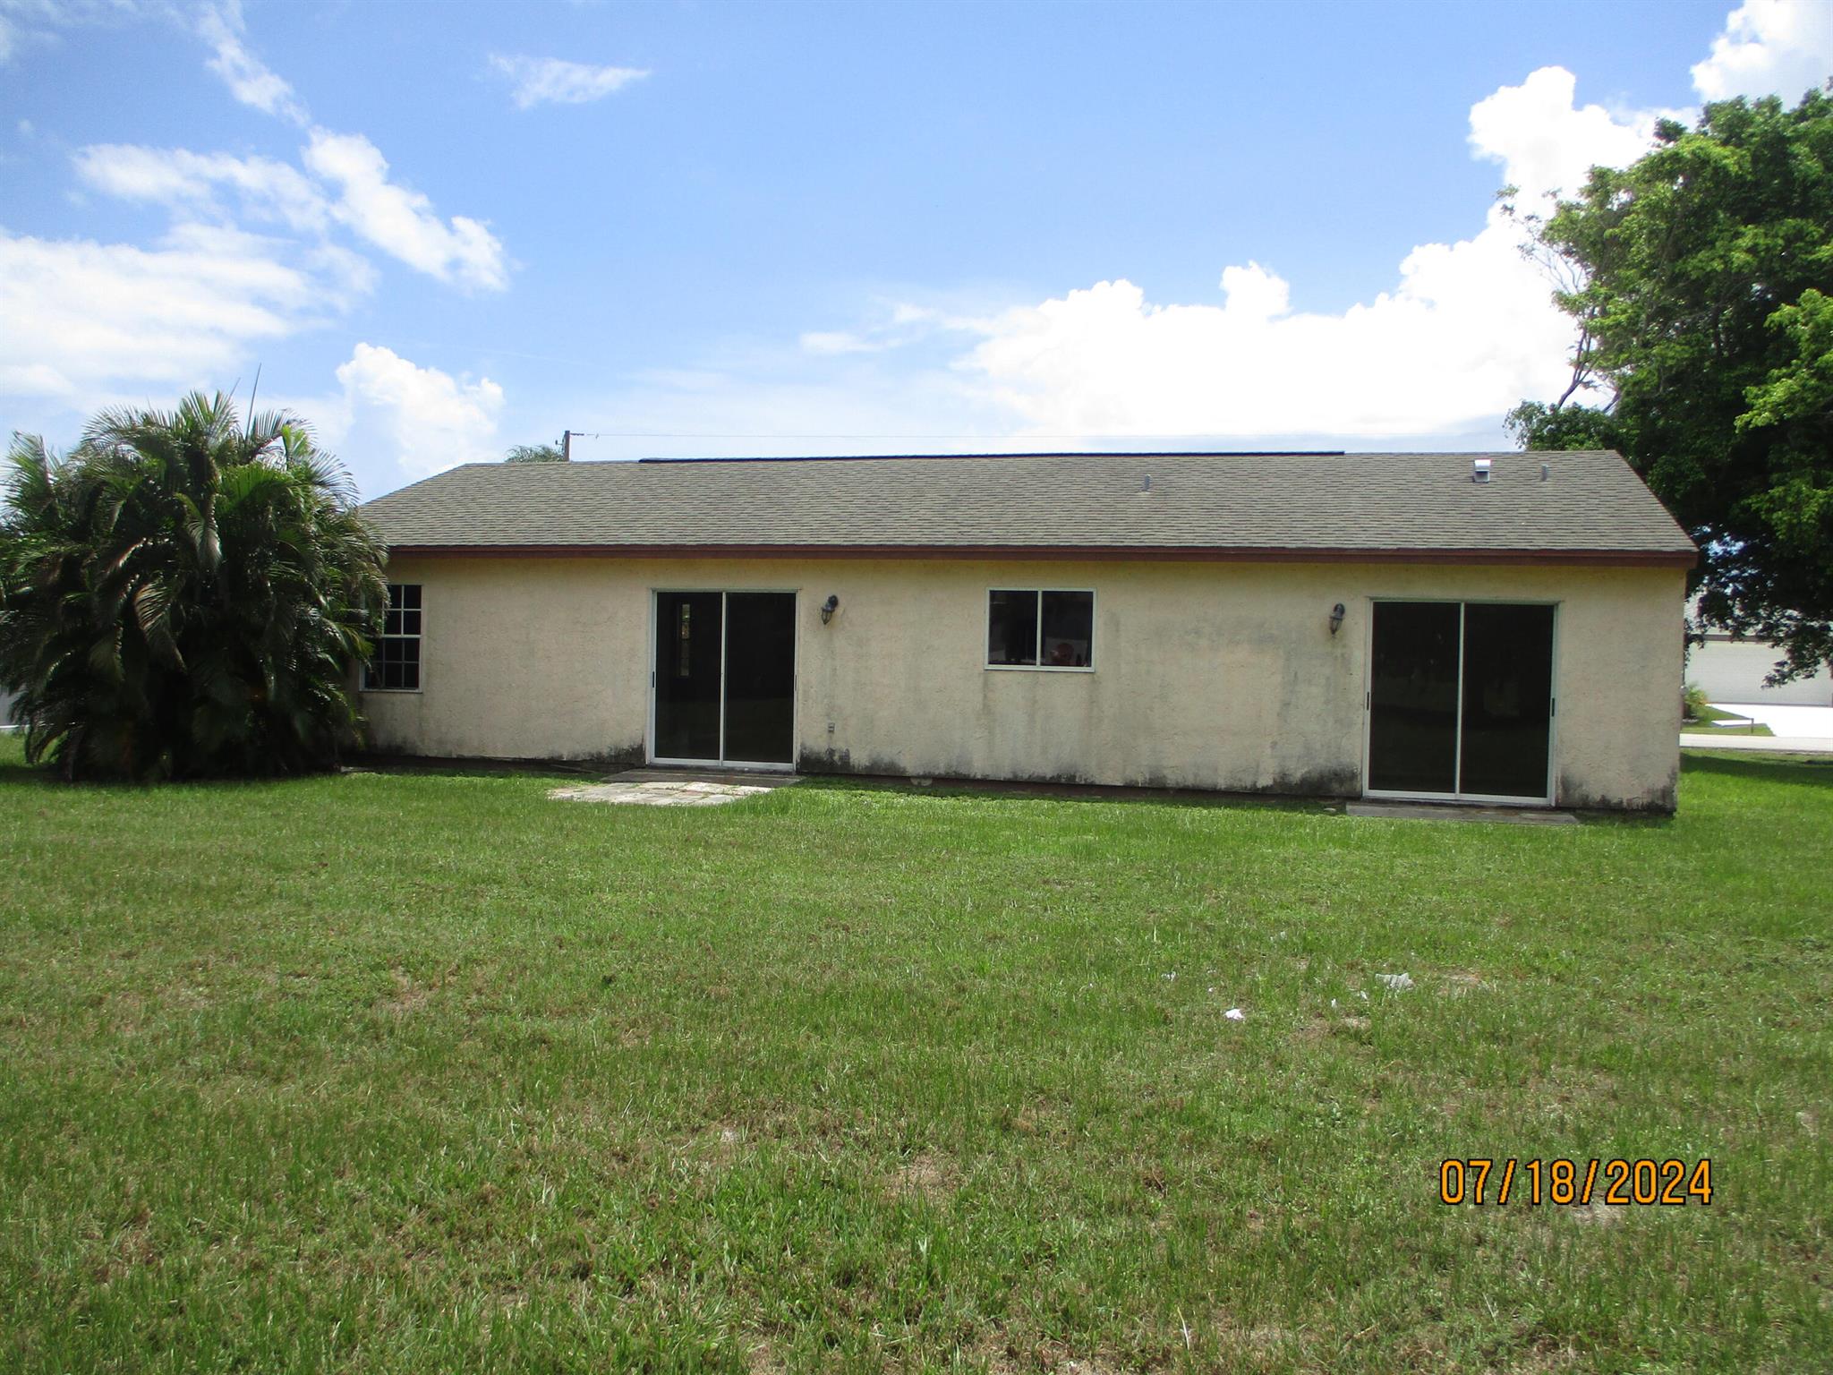
[[[796,761],[796,594],[656,592],[654,735],[665,763]]]

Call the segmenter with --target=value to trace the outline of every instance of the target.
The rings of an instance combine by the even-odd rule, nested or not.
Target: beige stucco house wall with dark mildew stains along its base
[[[423,691],[363,695],[381,750],[642,759],[651,592],[777,588],[801,594],[805,768],[1320,794],[1362,788],[1371,600],[1556,601],[1556,801],[1674,803],[1679,570],[400,557],[389,576],[423,585],[427,638]],[[982,667],[990,587],[1094,588],[1094,673]]]

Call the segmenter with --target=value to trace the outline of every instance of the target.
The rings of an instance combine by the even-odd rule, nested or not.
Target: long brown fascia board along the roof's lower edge
[[[1692,568],[1697,550],[1259,548],[1215,544],[390,544],[389,554],[464,559],[1030,559],[1065,563],[1554,563]]]

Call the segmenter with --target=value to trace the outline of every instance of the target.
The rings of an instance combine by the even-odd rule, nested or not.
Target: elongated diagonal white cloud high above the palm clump
[[[464,214],[442,220],[433,202],[389,180],[389,161],[361,134],[312,130],[306,167],[337,187],[332,213],[359,236],[411,268],[500,292],[510,284],[502,244]]]

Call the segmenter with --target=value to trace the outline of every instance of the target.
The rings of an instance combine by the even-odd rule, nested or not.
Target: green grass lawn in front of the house
[[[0,1368],[1833,1353],[1833,761],[1505,827],[0,752]],[[1444,1206],[1446,1155],[1716,1192]]]

